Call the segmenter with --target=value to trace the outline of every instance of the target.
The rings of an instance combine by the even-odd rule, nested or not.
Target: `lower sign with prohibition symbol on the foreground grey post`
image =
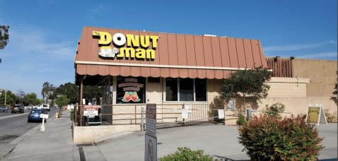
[[[150,136],[147,133],[144,147],[144,160],[145,161],[157,160],[157,138],[154,136]]]

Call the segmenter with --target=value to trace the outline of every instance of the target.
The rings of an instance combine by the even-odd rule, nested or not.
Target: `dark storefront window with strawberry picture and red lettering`
[[[146,103],[146,78],[117,77],[117,104]]]

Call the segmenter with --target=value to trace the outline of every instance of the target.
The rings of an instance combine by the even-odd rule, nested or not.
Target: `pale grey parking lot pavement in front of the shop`
[[[325,136],[319,159],[337,158],[337,124],[317,126],[320,137]],[[134,132],[98,143],[101,153],[107,160],[144,160],[145,132]],[[249,160],[243,145],[238,143],[237,126],[185,126],[170,129],[157,129],[158,158],[175,153],[178,147],[192,150],[202,149],[204,154]],[[86,150],[86,147],[83,148]],[[86,153],[85,153],[86,155]]]

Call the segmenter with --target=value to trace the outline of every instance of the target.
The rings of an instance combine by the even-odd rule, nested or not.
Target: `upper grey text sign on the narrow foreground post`
[[[146,133],[156,137],[156,104],[146,105]]]

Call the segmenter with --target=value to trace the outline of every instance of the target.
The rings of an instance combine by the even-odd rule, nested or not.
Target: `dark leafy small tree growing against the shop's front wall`
[[[268,68],[238,70],[226,78],[221,95],[224,100],[230,100],[231,97],[243,98],[243,105],[240,108],[247,109],[245,97],[250,97],[254,101],[267,97],[270,86],[265,84],[265,81],[269,80],[271,76],[272,73],[268,71]]]

